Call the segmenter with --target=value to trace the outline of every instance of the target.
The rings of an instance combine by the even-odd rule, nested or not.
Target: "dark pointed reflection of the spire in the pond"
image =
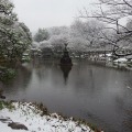
[[[72,70],[72,65],[61,65],[63,72],[65,84],[67,84],[69,72]]]

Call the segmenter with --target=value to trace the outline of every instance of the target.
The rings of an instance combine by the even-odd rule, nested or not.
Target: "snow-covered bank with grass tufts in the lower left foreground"
[[[24,124],[28,130],[13,130],[12,122]],[[51,113],[44,114],[36,105],[26,102],[0,103],[0,132],[94,132],[87,124],[72,118]]]

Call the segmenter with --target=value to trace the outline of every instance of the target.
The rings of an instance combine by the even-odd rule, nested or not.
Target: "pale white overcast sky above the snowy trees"
[[[38,28],[70,25],[84,7],[95,0],[12,0],[14,12],[32,32]]]

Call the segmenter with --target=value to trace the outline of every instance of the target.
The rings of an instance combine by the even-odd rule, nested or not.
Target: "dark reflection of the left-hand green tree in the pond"
[[[2,86],[4,88],[7,98],[8,99],[9,97],[11,99],[22,98],[25,95],[31,80],[32,80],[31,68],[25,66],[20,66],[16,69],[16,77],[12,81],[9,81],[8,84],[3,84]]]

